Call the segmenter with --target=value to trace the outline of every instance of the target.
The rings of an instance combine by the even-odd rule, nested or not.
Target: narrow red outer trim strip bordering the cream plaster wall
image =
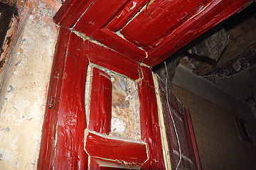
[[[68,39],[70,30],[66,28],[60,28],[58,42],[55,47],[55,57],[53,60],[53,69],[50,77],[49,86],[53,84],[53,77],[55,72],[60,73],[60,77],[63,75],[63,64],[65,62],[66,50],[68,47]],[[58,82],[60,85],[62,80]],[[59,98],[60,89],[58,89]],[[48,99],[50,98],[50,89],[48,90]],[[53,169],[55,158],[55,133],[58,120],[59,103],[56,103],[55,109],[48,109],[46,107],[46,115],[43,123],[42,142],[40,147],[40,154],[38,159],[38,169]],[[51,168],[50,168],[51,167]]]

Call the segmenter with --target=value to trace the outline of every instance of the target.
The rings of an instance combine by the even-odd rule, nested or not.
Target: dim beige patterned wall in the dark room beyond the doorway
[[[234,113],[174,84],[171,89],[190,110],[203,169],[255,169],[255,121],[247,120],[253,143],[243,142]]]

